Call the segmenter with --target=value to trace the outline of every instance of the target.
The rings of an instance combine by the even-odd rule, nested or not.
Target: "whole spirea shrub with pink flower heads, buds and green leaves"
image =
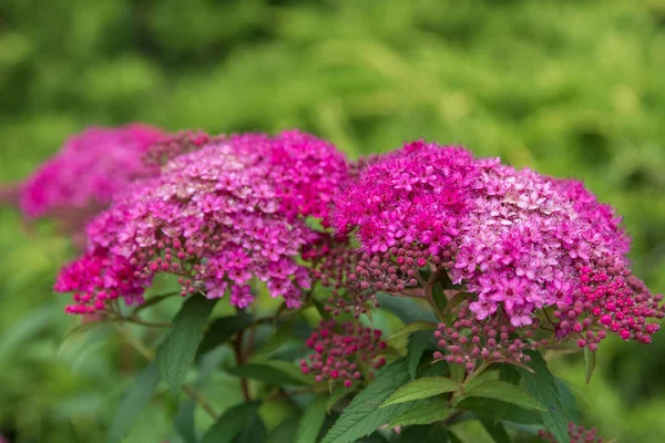
[[[422,141],[350,162],[298,131],[142,128],[119,161],[127,138],[95,131],[81,140],[96,154],[68,147],[22,206],[103,207],[55,290],[154,360],[110,442],[160,380],[215,420],[192,434],[178,412],[186,441],[462,441],[458,424],[477,421],[497,442],[601,442],[544,351],[583,351],[589,382],[603,339],[648,344],[659,329],[662,296],[632,274],[621,218],[581,182]],[[177,315],[155,319],[172,295]],[[167,332],[153,352],[131,328]],[[244,403],[219,414],[187,373],[226,344],[235,362],[219,370]],[[268,430],[262,404],[284,400],[294,420]]]

